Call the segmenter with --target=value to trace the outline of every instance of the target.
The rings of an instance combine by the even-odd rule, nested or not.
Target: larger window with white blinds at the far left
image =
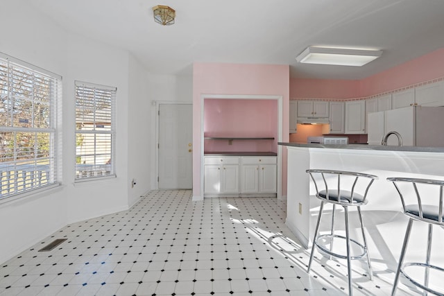
[[[61,77],[0,53],[0,200],[58,183]]]

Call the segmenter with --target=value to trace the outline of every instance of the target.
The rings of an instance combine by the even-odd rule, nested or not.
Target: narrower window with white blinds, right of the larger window
[[[76,180],[114,173],[115,87],[76,81]]]

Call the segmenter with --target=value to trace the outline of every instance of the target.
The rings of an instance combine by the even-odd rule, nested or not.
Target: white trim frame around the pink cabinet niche
[[[204,103],[205,99],[212,98],[224,98],[232,100],[276,100],[278,101],[278,142],[282,142],[282,106],[284,101],[284,96],[268,96],[268,95],[249,95],[249,94],[201,94],[200,95],[200,195],[203,198],[204,194]],[[278,145],[278,200],[282,200],[282,146]]]

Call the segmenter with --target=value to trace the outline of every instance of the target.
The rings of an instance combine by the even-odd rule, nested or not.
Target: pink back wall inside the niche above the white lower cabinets
[[[204,137],[273,137],[275,140],[206,139],[205,152],[278,152],[278,101],[205,99]]]

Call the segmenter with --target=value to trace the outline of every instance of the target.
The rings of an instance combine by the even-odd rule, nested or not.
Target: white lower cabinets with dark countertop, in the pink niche
[[[275,196],[277,193],[278,170],[274,156],[204,158],[206,197]]]

